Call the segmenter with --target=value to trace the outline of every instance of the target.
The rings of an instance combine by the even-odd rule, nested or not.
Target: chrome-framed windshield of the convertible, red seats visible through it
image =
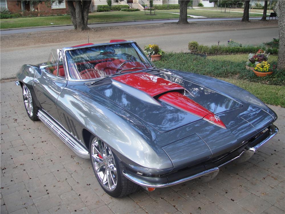
[[[70,50],[66,51],[66,58],[70,77],[79,80],[153,67],[153,64],[135,43]]]

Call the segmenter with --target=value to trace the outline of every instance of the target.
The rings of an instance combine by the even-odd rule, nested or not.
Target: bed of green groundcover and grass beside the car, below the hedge
[[[257,77],[245,69],[248,54],[216,55],[207,58],[189,53],[166,53],[154,64],[158,68],[184,70],[212,76],[231,82],[257,96],[267,104],[285,107],[285,72]],[[277,56],[270,55],[268,62],[276,63]]]

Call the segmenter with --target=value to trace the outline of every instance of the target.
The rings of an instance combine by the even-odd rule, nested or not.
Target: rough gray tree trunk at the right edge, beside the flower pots
[[[279,48],[278,48],[278,70],[285,70],[285,1],[277,1],[274,12],[278,16],[279,25]]]

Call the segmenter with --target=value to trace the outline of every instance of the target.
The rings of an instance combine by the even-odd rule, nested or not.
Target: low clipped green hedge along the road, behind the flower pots
[[[243,47],[230,47],[224,45],[199,45],[195,41],[191,41],[188,43],[188,49],[192,53],[200,53],[200,54],[231,54],[231,53],[255,53],[259,49],[264,49],[264,46],[243,46]],[[267,53],[278,54],[277,48],[265,48]]]

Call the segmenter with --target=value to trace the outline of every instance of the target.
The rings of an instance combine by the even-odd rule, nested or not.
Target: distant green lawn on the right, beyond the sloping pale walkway
[[[179,13],[179,9],[174,10],[157,10],[162,12],[172,12],[172,13]],[[218,11],[212,11],[212,10],[198,10],[198,9],[187,9],[188,15],[194,15],[194,16],[205,16],[205,17],[242,17],[243,13],[238,12],[231,12],[231,13],[221,13],[221,10]],[[251,17],[260,17],[262,14],[255,14],[251,13]]]

